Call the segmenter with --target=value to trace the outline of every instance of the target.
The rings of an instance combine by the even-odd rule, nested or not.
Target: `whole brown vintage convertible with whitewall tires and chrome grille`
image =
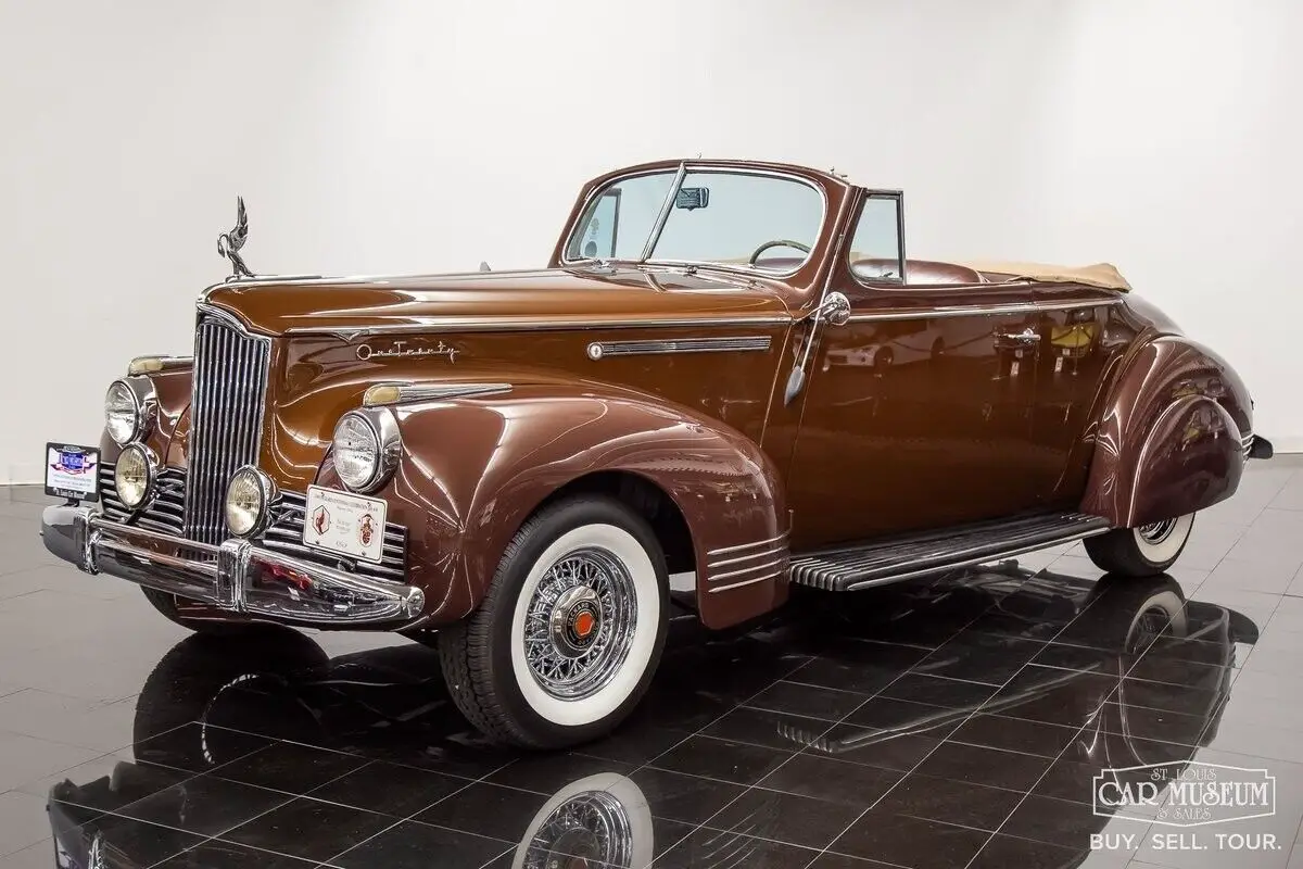
[[[197,631],[434,642],[523,745],[638,702],[671,589],[728,628],[1075,539],[1153,575],[1272,452],[1111,267],[906,259],[900,193],[834,173],[620,169],[539,271],[257,278],[246,235],[194,356],[48,446],[47,547]]]

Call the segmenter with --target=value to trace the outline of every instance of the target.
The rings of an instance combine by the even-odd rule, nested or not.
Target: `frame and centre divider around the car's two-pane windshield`
[[[662,259],[653,258],[652,251],[655,250],[657,242],[661,241],[661,233],[665,231],[665,225],[670,220],[670,215],[674,212],[674,201],[683,186],[684,180],[689,173],[708,173],[708,175],[753,175],[780,178],[783,181],[796,181],[797,184],[804,184],[805,186],[813,189],[820,195],[820,220],[818,228],[813,236],[813,244],[810,250],[805,254],[804,259],[788,271],[773,271],[769,268],[758,268],[748,263],[726,263],[715,259]],[[607,190],[612,186],[628,181],[629,178],[638,178],[648,175],[674,175],[674,182],[670,185],[670,190],[666,194],[665,201],[661,203],[661,211],[657,215],[657,221],[648,235],[648,241],[642,246],[642,253],[636,259],[619,258],[619,257],[575,257],[571,258],[569,249],[571,244],[575,241],[576,235],[584,225],[584,218],[589,214],[593,203],[597,202],[598,197],[605,195]],[[560,257],[558,262],[562,266],[593,266],[605,263],[624,263],[632,266],[674,266],[681,268],[718,268],[723,271],[734,271],[752,278],[792,278],[803,268],[809,267],[810,262],[814,261],[816,253],[823,241],[823,233],[827,229],[827,190],[822,184],[818,184],[814,178],[805,177],[797,172],[787,172],[783,169],[769,168],[769,167],[748,167],[748,165],[728,165],[726,163],[704,163],[696,160],[681,160],[678,165],[672,163],[663,163],[659,165],[642,167],[631,172],[624,172],[614,177],[603,178],[602,184],[593,185],[588,195],[584,197],[582,203],[575,211],[575,219],[571,223],[566,238],[560,245]]]

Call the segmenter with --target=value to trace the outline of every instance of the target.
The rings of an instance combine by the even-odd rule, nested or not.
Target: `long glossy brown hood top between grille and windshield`
[[[657,268],[265,279],[220,284],[206,301],[265,335],[582,327],[788,313],[777,285],[767,281]]]

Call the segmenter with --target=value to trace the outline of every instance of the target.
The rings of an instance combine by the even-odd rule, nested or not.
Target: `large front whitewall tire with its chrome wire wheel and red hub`
[[[641,700],[667,627],[665,556],[646,521],[602,496],[530,517],[480,608],[439,633],[457,707],[502,741],[573,745]]]

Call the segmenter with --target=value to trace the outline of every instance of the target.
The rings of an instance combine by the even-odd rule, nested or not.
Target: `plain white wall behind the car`
[[[913,255],[1106,259],[1303,448],[1296,0],[0,0],[0,481],[255,271],[546,259],[581,181],[737,155],[907,192]],[[14,412],[17,409],[17,412]]]

